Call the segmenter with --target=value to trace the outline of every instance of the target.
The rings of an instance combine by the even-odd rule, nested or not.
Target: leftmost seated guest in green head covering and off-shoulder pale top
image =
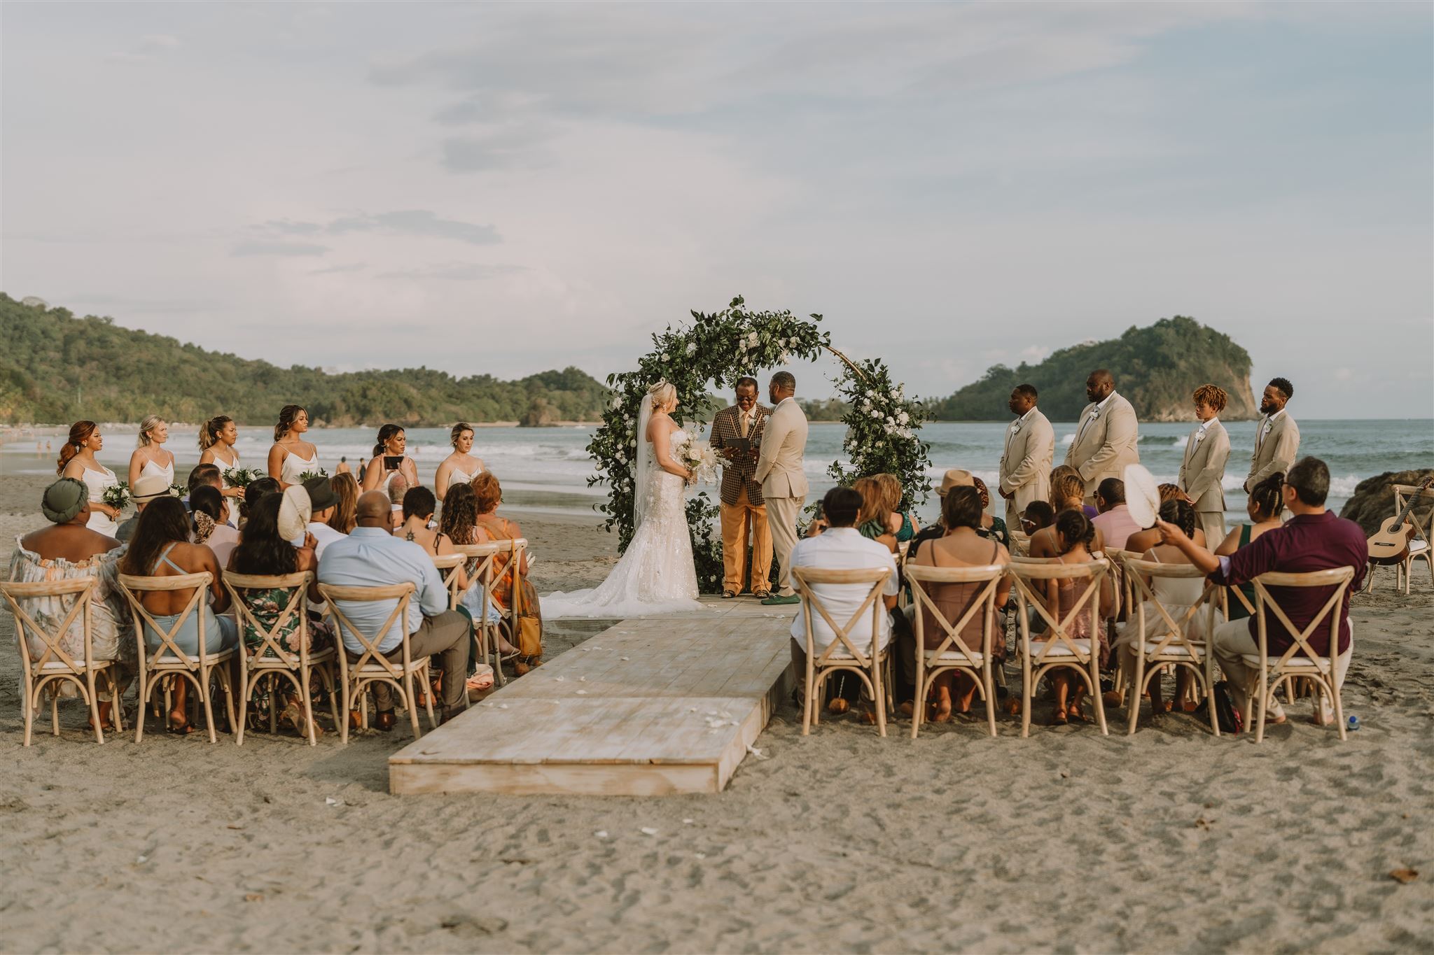
[[[155,478],[162,481],[163,478]],[[169,485],[165,484],[165,493]],[[116,682],[123,694],[129,682],[129,672],[133,667],[135,644],[122,636],[120,621],[126,620],[125,596],[115,583],[115,571],[119,564],[120,544],[113,537],[92,531],[86,527],[90,517],[89,488],[83,481],[75,478],[60,478],[44,488],[40,498],[40,513],[50,527],[37,530],[16,541],[14,553],[10,556],[10,583],[37,584],[57,583],[62,580],[79,580],[93,577],[96,581],[95,596],[90,600],[90,651],[95,660],[118,660]],[[19,601],[27,614],[37,624],[53,633],[66,614],[75,607],[76,594],[63,597],[37,597]],[[24,646],[32,660],[39,660],[44,651],[44,641],[29,631],[24,631]],[[60,637],[59,646],[70,654],[76,663],[85,661],[85,619],[76,616],[69,630]],[[108,682],[100,679],[98,687],[108,687]],[[69,682],[59,683],[63,690],[75,687]],[[108,689],[98,692],[99,719],[105,727],[115,726],[110,717],[113,700]]]

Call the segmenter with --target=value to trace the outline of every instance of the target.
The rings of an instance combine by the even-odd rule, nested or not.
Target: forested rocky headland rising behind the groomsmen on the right
[[[1250,357],[1229,335],[1193,318],[1162,318],[1149,328],[1126,331],[1104,342],[1071,345],[1037,365],[995,365],[956,394],[932,402],[938,421],[991,421],[1008,417],[1011,388],[1035,385],[1040,405],[1053,421],[1074,421],[1086,407],[1086,378],[1108,368],[1116,391],[1136,408],[1141,421],[1193,421],[1190,392],[1210,382],[1230,392],[1225,421],[1253,418],[1259,412],[1250,392]]]

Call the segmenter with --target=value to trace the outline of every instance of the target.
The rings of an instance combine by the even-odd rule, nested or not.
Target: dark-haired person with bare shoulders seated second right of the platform
[[[981,503],[979,493],[974,487],[952,488],[941,500],[941,520],[946,527],[944,537],[912,546],[911,563],[916,567],[981,567],[985,564],[1007,564],[1011,561],[1005,547],[981,534],[981,517],[987,504]],[[1004,521],[1002,521],[1004,524]],[[926,594],[941,611],[948,623],[955,623],[971,607],[971,601],[985,588],[984,583],[954,584],[928,583],[923,584]],[[1011,591],[1010,577],[1002,577],[995,591],[995,606],[1005,606],[1005,598]],[[918,609],[923,616],[923,637],[926,650],[935,650],[945,639],[946,631],[936,621],[935,614],[925,604]],[[974,614],[965,627],[961,629],[959,640],[969,650],[982,651],[985,621],[981,614]],[[1005,657],[1005,633],[995,621],[991,624],[991,651],[997,659]],[[952,707],[958,713],[971,712],[971,697],[977,683],[967,673],[946,672],[935,679],[932,686],[936,690],[936,704],[932,719],[945,723],[951,719]]]

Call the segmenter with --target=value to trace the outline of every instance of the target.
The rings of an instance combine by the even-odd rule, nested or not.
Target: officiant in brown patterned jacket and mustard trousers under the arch
[[[771,531],[767,530],[761,484],[753,478],[769,414],[770,408],[757,402],[757,379],[739,378],[737,404],[713,415],[711,445],[723,460],[721,596],[728,600],[743,590],[749,553],[753,596],[764,600],[771,593]]]

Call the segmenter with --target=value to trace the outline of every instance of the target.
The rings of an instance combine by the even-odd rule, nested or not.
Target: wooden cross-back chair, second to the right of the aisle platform
[[[911,581],[911,597],[916,606],[916,696],[911,714],[911,737],[916,739],[921,722],[925,717],[926,687],[931,680],[942,673],[959,670],[969,673],[977,682],[977,690],[987,707],[987,724],[991,736],[995,736],[995,677],[991,672],[991,649],[995,640],[995,591],[1005,576],[1002,564],[984,564],[978,567],[926,567],[918,564],[906,566],[906,580]],[[931,598],[928,584],[985,584],[971,598],[965,613],[954,623],[936,609]],[[922,609],[931,610],[936,626],[944,631],[941,644],[934,650],[926,650],[926,614]],[[958,636],[968,623],[981,614],[981,649],[971,650]],[[1002,640],[1005,639],[1002,631]]]

